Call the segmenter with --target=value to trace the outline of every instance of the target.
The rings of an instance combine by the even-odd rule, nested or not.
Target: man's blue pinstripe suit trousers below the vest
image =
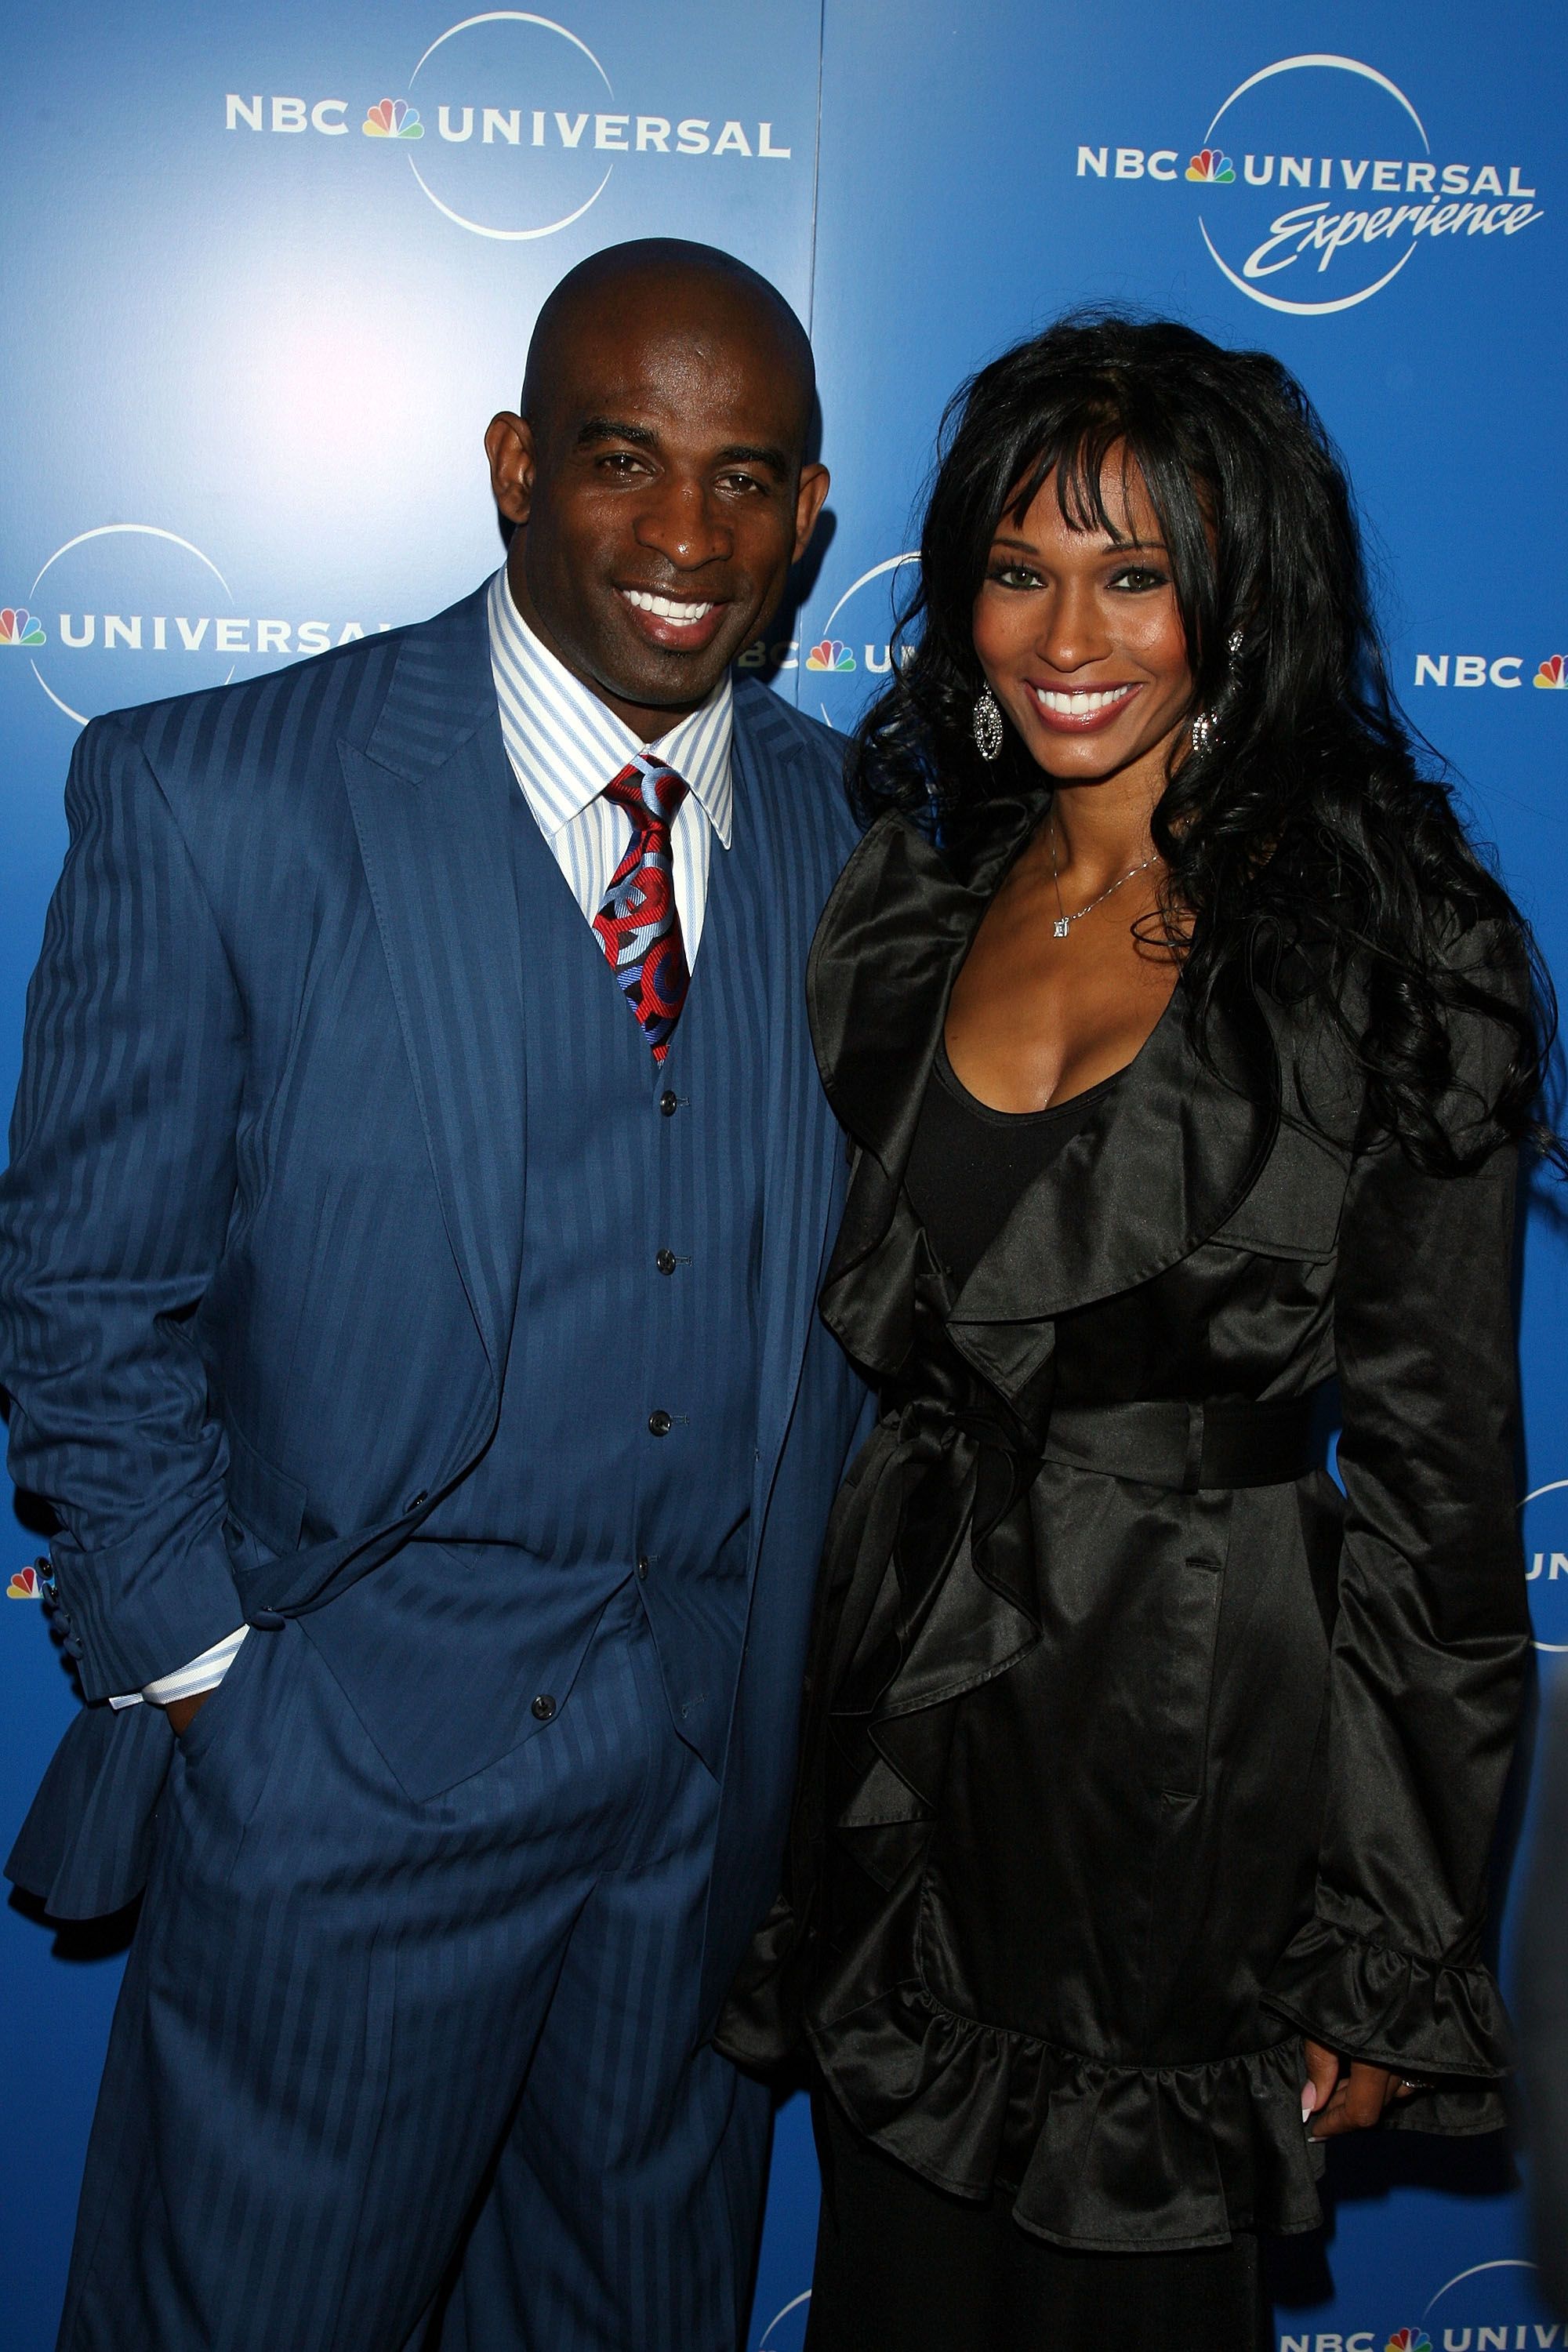
[[[63,2352],[733,2352],[769,2100],[698,2046],[717,1799],[632,1583],[423,1804],[254,1632],[174,1757]]]

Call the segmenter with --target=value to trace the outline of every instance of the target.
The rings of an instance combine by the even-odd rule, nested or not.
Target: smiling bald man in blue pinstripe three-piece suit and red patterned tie
[[[0,1190],[87,1705],[9,1872],[146,1905],[71,2352],[729,2352],[863,1397],[806,946],[832,739],[736,654],[827,475],[783,299],[541,313],[451,612],[92,724]]]

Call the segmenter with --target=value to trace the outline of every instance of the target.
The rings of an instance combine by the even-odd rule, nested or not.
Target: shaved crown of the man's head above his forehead
[[[698,348],[738,343],[773,383],[792,395],[795,461],[804,456],[816,400],[816,365],[806,329],[757,270],[717,245],[686,238],[635,238],[588,254],[567,270],[534,322],[522,379],[522,414],[536,433],[550,430],[559,390],[578,374],[583,341],[614,334],[689,336]]]

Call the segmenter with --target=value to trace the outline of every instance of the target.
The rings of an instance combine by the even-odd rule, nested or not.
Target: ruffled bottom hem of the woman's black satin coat
[[[1225,2246],[1321,2220],[1300,2042],[1194,2065],[1112,2065],[896,1985],[806,2037],[851,2124],[959,2197],[992,2187],[1058,2246]]]

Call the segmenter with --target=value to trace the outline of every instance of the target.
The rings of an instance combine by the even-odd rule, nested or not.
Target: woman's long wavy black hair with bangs
[[[1171,753],[1154,844],[1166,934],[1199,1044],[1237,983],[1312,1000],[1349,1044],[1366,1138],[1453,1171],[1476,1134],[1535,1134],[1552,988],[1512,898],[1476,856],[1434,762],[1394,706],[1345,470],[1312,402],[1269,353],[1190,327],[1079,313],[966,383],[943,419],[919,588],[898,621],[893,680],[849,764],[863,821],[900,809],[961,847],[997,797],[1048,779],[1009,724],[980,760],[973,604],[1004,515],[1056,473],[1065,522],[1117,536],[1103,480],[1133,466],[1159,515],[1194,713]],[[1201,729],[1199,729],[1201,734]],[[1495,1091],[1469,1115],[1453,1016],[1500,1025]]]

